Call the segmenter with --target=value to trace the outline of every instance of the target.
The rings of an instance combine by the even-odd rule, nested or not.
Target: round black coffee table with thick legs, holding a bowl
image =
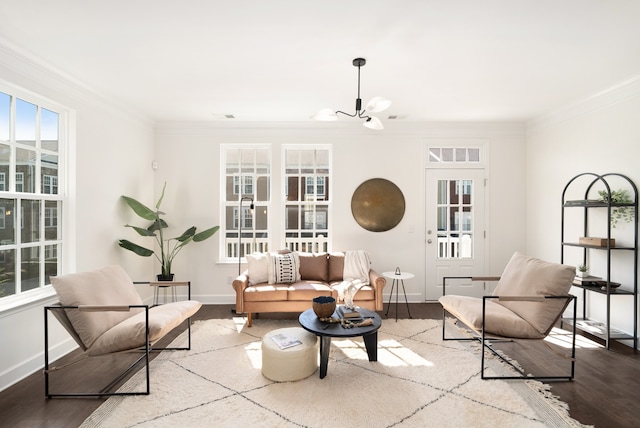
[[[320,321],[313,309],[307,309],[300,314],[298,321],[302,328],[320,337],[320,379],[324,379],[327,375],[332,337],[362,336],[364,346],[367,348],[369,361],[378,361],[378,329],[382,325],[382,319],[377,313],[368,309],[359,308],[358,312],[362,315],[363,320],[373,320],[373,325],[344,328],[340,323]],[[333,317],[338,318],[337,313],[334,312]]]

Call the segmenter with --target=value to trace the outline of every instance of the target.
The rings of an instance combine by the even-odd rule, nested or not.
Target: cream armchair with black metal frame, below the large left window
[[[191,348],[191,316],[202,306],[193,300],[149,307],[143,304],[133,282],[119,266],[92,272],[51,277],[60,303],[45,307],[45,395],[106,396],[149,394],[149,353],[153,346],[174,328],[187,321],[188,344]],[[49,362],[49,314],[53,314],[69,332],[85,356],[94,357],[117,352],[135,351],[140,357],[119,377],[144,361],[146,390],[139,392],[110,392],[107,385],[99,392],[54,393],[50,390],[50,372],[59,370]]]

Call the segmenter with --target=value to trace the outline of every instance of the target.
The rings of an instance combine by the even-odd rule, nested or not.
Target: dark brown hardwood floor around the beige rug
[[[194,320],[228,318],[233,316],[233,307],[205,305]],[[410,310],[415,319],[442,317],[437,303],[410,304]],[[398,305],[398,312],[399,318],[408,318],[405,305]],[[273,317],[295,319],[297,314],[261,315],[261,318]],[[394,317],[395,305],[392,305],[389,319]],[[254,322],[260,322],[260,318]],[[172,340],[175,334],[165,342]],[[640,405],[636,397],[640,386],[640,355],[624,345],[614,345],[611,350],[588,345],[589,342],[585,342],[576,351],[574,381],[554,382],[551,392],[568,403],[571,416],[583,424],[603,428],[640,426]],[[512,345],[507,352],[525,367],[527,364],[538,365],[541,361],[547,366],[550,347],[553,345]],[[74,357],[77,357],[76,353],[62,360],[66,362]],[[64,375],[54,379],[55,386],[62,390],[107,383],[128,364],[122,360],[121,356],[82,360],[72,369],[61,371]],[[153,383],[151,391],[153,394]],[[77,427],[104,401],[103,398],[46,399],[44,376],[38,372],[0,392],[0,427]]]

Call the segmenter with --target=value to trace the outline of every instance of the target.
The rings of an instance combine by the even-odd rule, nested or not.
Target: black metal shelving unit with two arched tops
[[[625,187],[629,187],[631,190],[630,196],[633,201],[630,203],[614,203],[611,201],[611,181],[622,182]],[[585,185],[586,183],[586,185]],[[584,186],[584,198],[578,200],[567,200],[567,194],[569,190],[574,190],[573,187],[582,185]],[[605,195],[608,195],[605,200],[593,199],[594,192],[602,190]],[[590,198],[591,197],[591,198]],[[633,246],[616,246],[612,245],[611,236],[611,213],[612,210],[622,207],[633,208],[634,211],[634,239]],[[584,236],[589,236],[589,213],[592,210],[605,210],[606,211],[606,246],[598,245],[585,245],[580,242],[567,241],[565,236],[565,226],[567,218],[565,216],[567,210],[583,210],[583,233]],[[585,172],[573,177],[565,186],[562,191],[562,223],[561,223],[561,251],[560,251],[560,263],[565,262],[565,251],[568,247],[578,247],[582,249],[582,263],[587,264],[588,255],[590,251],[602,251],[605,252],[606,257],[606,275],[602,277],[602,286],[577,284],[574,286],[582,289],[582,318],[578,318],[578,325],[576,327],[587,331],[593,336],[599,337],[605,343],[607,349],[610,349],[612,340],[632,340],[633,348],[638,347],[638,189],[636,185],[626,176],[618,173],[608,174],[595,174]],[[573,237],[573,239],[577,238]],[[620,288],[614,288],[611,286],[611,262],[612,257],[615,257],[619,252],[633,252],[633,266],[629,266],[629,269],[633,269],[633,283],[622,284]],[[598,293],[606,296],[606,319],[600,321],[604,325],[604,331],[596,332],[593,329],[584,328],[584,324],[581,326],[581,321],[593,321],[587,316],[587,296],[589,293]],[[626,297],[625,297],[626,296]],[[633,300],[633,334],[614,331],[612,332],[611,326],[611,300],[614,299],[628,299]],[[563,320],[563,322],[568,322]]]

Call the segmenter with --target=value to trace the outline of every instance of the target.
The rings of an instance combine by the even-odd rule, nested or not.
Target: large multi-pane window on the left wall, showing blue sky
[[[50,283],[60,270],[59,191],[65,113],[0,86],[0,298]],[[28,99],[27,99],[28,98]]]

